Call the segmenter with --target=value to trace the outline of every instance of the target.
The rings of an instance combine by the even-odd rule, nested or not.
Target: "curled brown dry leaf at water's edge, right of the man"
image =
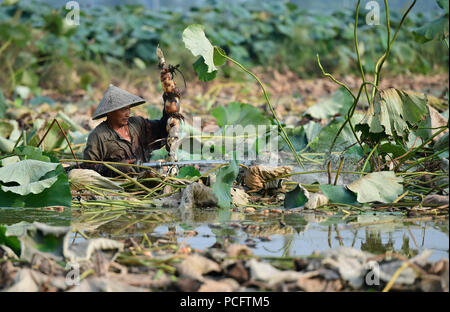
[[[291,166],[272,167],[258,165],[250,167],[244,177],[244,183],[251,190],[262,190],[278,187],[277,178],[292,171]]]

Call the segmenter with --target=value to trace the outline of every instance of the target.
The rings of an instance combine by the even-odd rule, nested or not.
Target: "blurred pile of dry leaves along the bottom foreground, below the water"
[[[448,291],[449,287],[448,260],[429,262],[428,250],[406,259],[340,247],[271,264],[239,244],[215,244],[193,253],[163,240],[138,244],[130,238],[124,245],[112,243],[114,246],[104,239],[73,245],[72,256],[84,254],[76,273],[53,255],[34,252],[29,261],[18,261],[2,246],[0,290],[334,292]],[[115,250],[112,254],[107,252],[111,248]],[[76,259],[66,258],[67,263],[69,260],[73,266]]]

